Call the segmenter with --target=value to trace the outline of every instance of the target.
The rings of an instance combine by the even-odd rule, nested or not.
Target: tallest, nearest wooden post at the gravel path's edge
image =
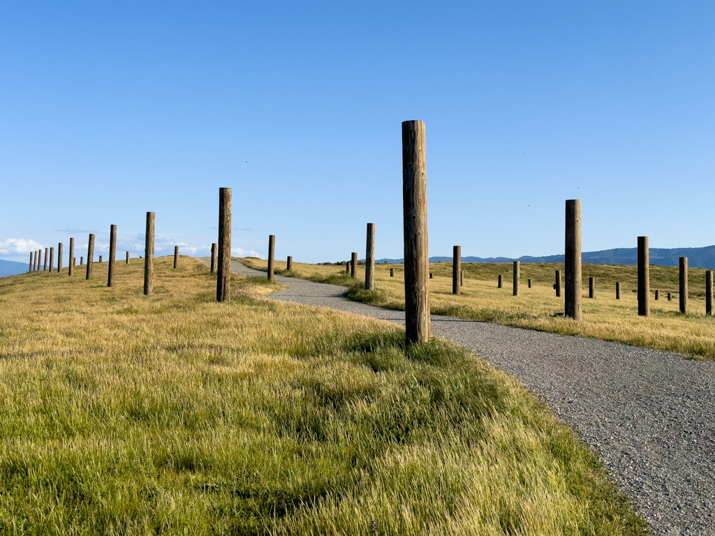
[[[427,236],[425,124],[403,121],[403,224],[405,232],[405,340],[428,342],[430,259]]]

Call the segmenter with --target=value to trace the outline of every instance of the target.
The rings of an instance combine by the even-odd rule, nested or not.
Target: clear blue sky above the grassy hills
[[[715,244],[711,1],[0,1],[0,258],[204,255],[219,187],[235,254],[402,257],[407,119],[430,255]]]

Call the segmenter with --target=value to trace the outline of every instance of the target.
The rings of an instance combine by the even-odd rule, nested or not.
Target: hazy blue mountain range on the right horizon
[[[715,246],[678,247],[674,249],[650,248],[650,264],[659,266],[678,266],[680,257],[688,257],[688,266],[693,268],[715,268]],[[400,264],[404,259],[380,259],[375,262]],[[452,257],[430,257],[430,262],[451,261]],[[462,257],[462,262],[563,262],[563,255],[546,257]],[[589,264],[638,264],[638,248],[620,247],[603,249],[600,252],[581,253],[581,262]]]

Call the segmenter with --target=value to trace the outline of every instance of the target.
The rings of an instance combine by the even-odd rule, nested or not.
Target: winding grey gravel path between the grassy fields
[[[265,274],[232,263],[232,271]],[[401,322],[344,287],[277,277],[275,299]],[[715,535],[715,362],[528,329],[432,317],[461,344],[546,400],[601,457],[657,535]]]

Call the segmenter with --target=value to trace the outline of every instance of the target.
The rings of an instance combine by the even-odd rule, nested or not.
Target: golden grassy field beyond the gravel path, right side
[[[260,259],[246,264],[265,269]],[[279,269],[285,262],[276,262]],[[689,314],[679,313],[678,268],[651,266],[651,316],[638,317],[635,266],[583,264],[583,321],[563,317],[562,297],[553,290],[554,271],[563,264],[521,264],[519,296],[512,295],[511,264],[462,264],[464,287],[461,296],[452,294],[452,263],[430,264],[430,307],[433,314],[496,322],[508,326],[593,337],[637,346],[671,350],[689,357],[715,359],[715,317],[705,316],[705,270],[689,269]],[[395,277],[390,277],[390,268]],[[503,288],[497,288],[498,274]],[[345,267],[293,263],[293,275],[315,281],[350,285]],[[596,298],[588,298],[588,277],[596,278]],[[365,281],[365,267],[358,266],[358,282]],[[528,279],[532,287],[528,288]],[[621,299],[616,300],[616,281],[621,282]],[[341,283],[342,282],[342,283]],[[360,291],[350,297],[392,309],[405,308],[405,279],[402,264],[375,267],[375,292]],[[654,292],[660,291],[660,299]],[[666,294],[671,292],[672,300]]]

